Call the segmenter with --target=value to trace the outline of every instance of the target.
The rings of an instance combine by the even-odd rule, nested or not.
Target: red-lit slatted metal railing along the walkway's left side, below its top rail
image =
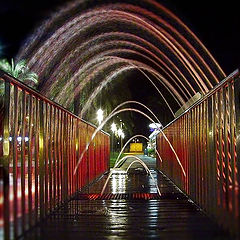
[[[16,239],[109,168],[109,135],[0,73],[0,238]]]

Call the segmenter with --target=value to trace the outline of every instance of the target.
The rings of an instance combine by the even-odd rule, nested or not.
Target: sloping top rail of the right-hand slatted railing
[[[172,125],[174,122],[176,122],[179,118],[181,118],[183,115],[188,113],[191,109],[196,107],[197,105],[201,104],[204,102],[207,98],[209,98],[211,95],[213,95],[216,91],[218,91],[221,87],[223,87],[227,82],[230,80],[236,78],[237,76],[240,75],[239,69],[235,70],[233,73],[231,73],[228,77],[224,78],[221,82],[219,82],[213,89],[211,89],[206,95],[204,95],[201,99],[199,99],[196,103],[194,103],[192,106],[190,106],[188,109],[186,109],[181,115],[179,115],[177,118],[173,119],[170,123],[168,123],[164,128],[169,127]]]

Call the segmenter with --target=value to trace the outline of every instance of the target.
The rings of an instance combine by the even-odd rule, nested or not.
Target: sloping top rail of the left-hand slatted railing
[[[90,126],[92,126],[92,127],[94,127],[94,128],[97,128],[97,126],[94,125],[93,123],[90,123],[90,122],[88,122],[88,121],[86,121],[86,120],[78,117],[77,115],[75,115],[74,113],[70,112],[70,111],[67,110],[66,108],[62,107],[62,106],[59,105],[58,103],[56,103],[56,102],[48,99],[47,97],[45,97],[44,95],[42,95],[41,93],[39,93],[38,91],[36,91],[35,89],[27,86],[25,83],[19,81],[18,79],[14,78],[13,76],[10,76],[8,73],[6,73],[6,72],[4,72],[4,71],[2,71],[2,70],[0,70],[0,78],[2,78],[4,81],[8,81],[8,82],[12,83],[13,85],[18,86],[18,87],[21,88],[22,90],[27,91],[29,94],[34,95],[36,98],[41,99],[41,100],[44,100],[45,102],[47,102],[47,103],[55,106],[56,108],[61,109],[61,111],[66,112],[67,114],[71,115],[72,117],[77,118],[77,119],[81,120],[82,122],[84,122],[84,123],[86,123],[86,124],[88,124],[88,125],[90,125]],[[108,136],[110,135],[109,133],[107,133],[107,132],[105,132],[105,131],[103,131],[103,130],[101,130],[101,132],[102,132],[103,134],[108,135]]]

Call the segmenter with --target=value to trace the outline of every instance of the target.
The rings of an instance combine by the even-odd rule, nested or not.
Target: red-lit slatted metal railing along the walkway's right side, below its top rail
[[[239,237],[240,184],[239,72],[216,86],[200,102],[164,128],[186,171],[160,133],[157,149],[168,175],[210,216]]]

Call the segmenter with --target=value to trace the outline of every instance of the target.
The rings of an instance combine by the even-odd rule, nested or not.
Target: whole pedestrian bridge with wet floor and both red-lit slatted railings
[[[157,161],[140,156],[153,179],[132,165],[101,194],[110,136],[75,172],[96,127],[1,72],[1,238],[239,238],[239,84],[235,71],[164,128]]]

